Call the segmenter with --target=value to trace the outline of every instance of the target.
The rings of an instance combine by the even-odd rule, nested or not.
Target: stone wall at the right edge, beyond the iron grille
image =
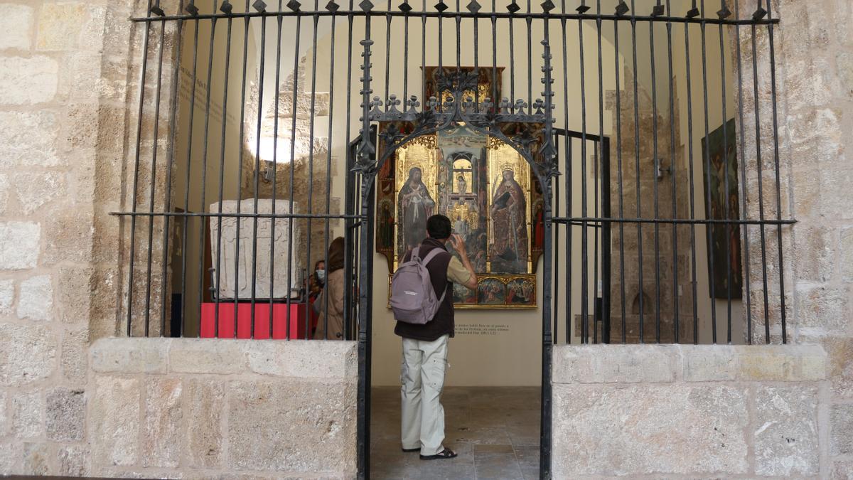
[[[741,16],[754,11],[755,3],[738,2]],[[775,78],[779,132],[781,204],[775,198],[775,144],[773,105],[769,102],[771,80],[770,36],[758,29],[756,38],[759,91],[751,94],[752,38],[749,29],[732,35],[744,53],[743,108],[746,119],[756,110],[762,119],[761,143],[753,120],[746,128],[744,144],[747,167],[757,172],[758,152],[763,165],[765,216],[793,218],[797,223],[781,229],[784,259],[785,312],[788,342],[818,343],[827,351],[830,394],[827,419],[832,424],[833,444],[828,454],[839,472],[853,471],[853,4],[847,0],[775,0],[773,16]],[[733,49],[737,44],[733,44]],[[734,85],[737,89],[737,85]],[[735,90],[737,91],[737,90]],[[747,179],[747,208],[759,208],[757,174]],[[751,278],[763,274],[760,266],[760,235],[750,232]],[[771,334],[778,341],[780,290],[775,228],[767,231],[769,312]],[[751,292],[753,318],[763,319],[763,291]],[[763,331],[753,332],[763,336]],[[839,477],[841,477],[839,475]]]

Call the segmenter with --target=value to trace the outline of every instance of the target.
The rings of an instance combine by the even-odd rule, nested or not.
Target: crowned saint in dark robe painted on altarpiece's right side
[[[515,179],[514,165],[504,164],[491,201],[491,271],[527,273],[527,199]]]

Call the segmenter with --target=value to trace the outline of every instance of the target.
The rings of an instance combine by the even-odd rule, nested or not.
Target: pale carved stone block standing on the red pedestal
[[[254,200],[241,200],[240,213],[253,214]],[[272,199],[258,199],[258,214],[273,213]],[[222,202],[223,214],[236,214],[238,201]],[[276,214],[295,214],[297,202],[276,199]],[[212,203],[211,213],[219,212],[219,203]],[[239,220],[239,222],[238,222]],[[287,298],[299,293],[301,284],[299,268],[299,222],[293,222],[291,231],[289,218],[277,218],[275,223],[270,217],[257,219],[248,217],[223,217],[222,237],[219,240],[219,220],[210,222],[211,258],[213,271],[213,292],[222,299],[252,298],[252,278],[255,280],[255,298]],[[258,230],[255,235],[255,222]],[[239,226],[238,226],[239,223]],[[257,239],[257,242],[253,241]],[[239,239],[239,245],[237,240]],[[217,284],[218,245],[221,244],[222,257],[218,261],[219,281]],[[288,255],[288,253],[290,255]],[[288,271],[287,260],[291,260]],[[236,274],[235,274],[236,269]],[[289,280],[289,282],[288,282]]]

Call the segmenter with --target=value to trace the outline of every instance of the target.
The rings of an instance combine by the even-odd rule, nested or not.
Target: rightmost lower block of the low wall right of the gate
[[[820,471],[817,389],[765,387],[756,393],[755,469],[764,477]]]

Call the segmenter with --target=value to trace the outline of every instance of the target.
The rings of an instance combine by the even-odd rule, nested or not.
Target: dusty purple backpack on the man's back
[[[444,250],[432,249],[426,257],[421,259],[421,255],[418,255],[419,249],[421,247],[415,247],[409,261],[397,267],[397,272],[394,272],[391,279],[391,309],[394,312],[394,319],[398,321],[425,325],[435,317],[438,307],[447,295],[445,288],[441,298],[435,297],[435,290],[432,289],[432,281],[427,270],[429,262]]]

